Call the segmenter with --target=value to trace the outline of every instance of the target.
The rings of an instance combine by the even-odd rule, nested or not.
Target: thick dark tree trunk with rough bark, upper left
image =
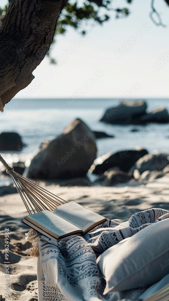
[[[1,112],[34,79],[32,72],[53,41],[62,2],[11,0],[0,28]]]

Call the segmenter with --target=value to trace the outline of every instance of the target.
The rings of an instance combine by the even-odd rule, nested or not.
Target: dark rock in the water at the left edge
[[[0,134],[0,151],[21,151],[23,146],[21,137],[17,133]]]

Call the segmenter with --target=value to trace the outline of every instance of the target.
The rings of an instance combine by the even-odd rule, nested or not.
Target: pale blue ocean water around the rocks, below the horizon
[[[60,135],[75,118],[81,118],[91,130],[103,131],[114,138],[97,139],[97,157],[108,152],[145,148],[148,152],[169,153],[169,124],[120,126],[99,122],[107,108],[119,99],[13,99],[1,113],[0,131],[17,132],[27,146],[19,152],[3,152],[8,164],[23,160],[29,166],[43,140]],[[147,99],[148,111],[164,106],[169,99]],[[135,129],[137,131],[132,132]],[[137,141],[137,142],[136,142]]]

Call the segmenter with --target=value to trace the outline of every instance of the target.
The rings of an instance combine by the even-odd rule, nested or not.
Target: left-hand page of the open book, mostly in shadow
[[[42,225],[44,228],[49,229],[58,236],[68,234],[72,231],[79,231],[79,228],[75,225],[70,224],[61,217],[56,216],[47,210],[25,216],[25,219],[28,221],[33,220],[37,224]]]

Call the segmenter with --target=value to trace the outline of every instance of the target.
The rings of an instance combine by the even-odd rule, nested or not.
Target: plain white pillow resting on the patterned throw
[[[156,222],[110,247],[97,258],[104,295],[160,281],[169,273],[169,219]]]

